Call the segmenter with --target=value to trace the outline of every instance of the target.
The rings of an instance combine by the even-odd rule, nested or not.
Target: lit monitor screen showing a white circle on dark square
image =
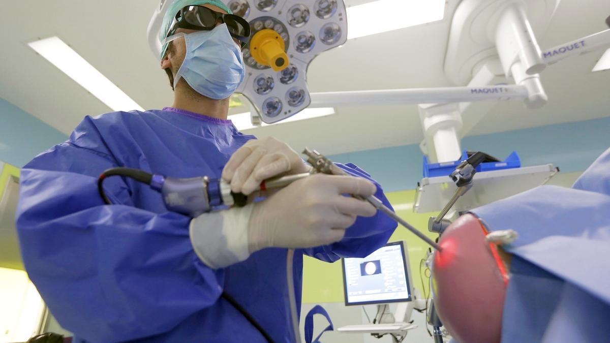
[[[345,305],[411,301],[403,242],[384,245],[366,258],[343,258]]]

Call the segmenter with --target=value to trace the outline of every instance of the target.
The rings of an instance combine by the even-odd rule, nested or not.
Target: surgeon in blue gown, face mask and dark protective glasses
[[[287,248],[296,249],[289,276],[300,308],[303,254],[364,257],[395,229],[370,204],[344,196],[375,194],[389,206],[351,164],[340,167],[352,176],[311,176],[264,201],[196,218],[168,212],[159,193],[131,179],[107,179],[113,204],[102,202],[96,182],[112,167],[223,178],[250,195],[264,179],[309,170],[285,143],[257,140],[227,120],[247,38],[247,23],[228,13],[217,0],[174,2],[160,37],[173,106],[85,117],[21,171],[24,264],[77,342],[295,341]]]

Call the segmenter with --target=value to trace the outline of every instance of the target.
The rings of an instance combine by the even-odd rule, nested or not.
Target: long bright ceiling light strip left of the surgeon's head
[[[144,110],[59,37],[41,39],[27,45],[110,109]]]

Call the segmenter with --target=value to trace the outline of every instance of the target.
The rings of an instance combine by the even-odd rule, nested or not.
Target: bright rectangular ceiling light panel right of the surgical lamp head
[[[330,0],[318,0],[320,2]],[[317,2],[316,2],[317,3]],[[347,9],[348,39],[442,20],[445,0],[378,0]]]

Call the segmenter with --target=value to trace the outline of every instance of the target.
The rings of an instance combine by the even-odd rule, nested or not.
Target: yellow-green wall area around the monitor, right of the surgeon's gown
[[[436,238],[436,234],[428,232],[428,218],[433,213],[414,213],[413,202],[415,201],[415,190],[403,190],[400,192],[386,193],[392,206],[397,209],[397,214],[415,228],[420,229],[428,237]],[[425,258],[428,245],[417,236],[398,225],[390,242],[404,240],[409,251],[409,262],[411,264],[411,278],[415,288],[422,292],[422,281],[420,281],[420,261]],[[344,302],[343,295],[343,272],[341,261],[327,263],[317,259],[304,257],[303,261],[303,303],[337,303]],[[425,278],[425,292],[428,294],[427,278]],[[323,281],[323,282],[320,282]],[[422,292],[423,294],[423,292]]]

